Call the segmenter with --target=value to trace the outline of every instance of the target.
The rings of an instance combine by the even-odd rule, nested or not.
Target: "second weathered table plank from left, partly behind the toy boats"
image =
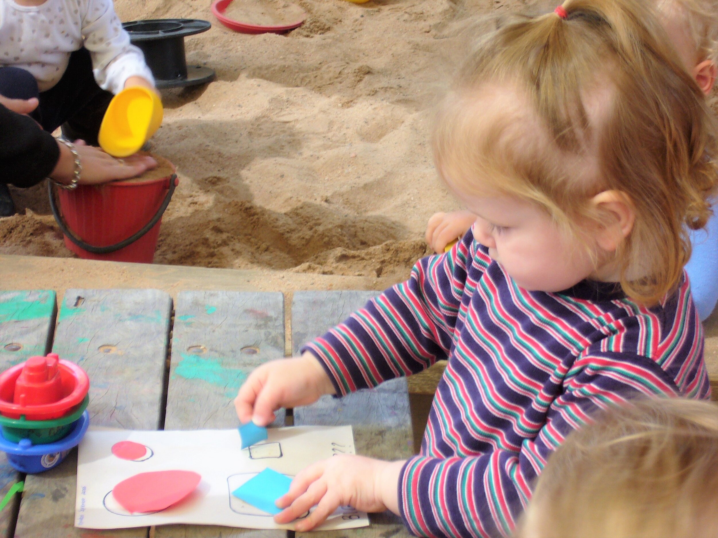
[[[162,414],[172,298],[157,290],[65,292],[53,351],[90,376],[93,425],[157,428]],[[76,451],[52,471],[28,476],[16,538],[146,537],[148,529],[75,529]]]

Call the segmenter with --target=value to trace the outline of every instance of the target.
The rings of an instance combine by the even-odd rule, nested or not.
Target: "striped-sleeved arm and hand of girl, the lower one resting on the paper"
[[[521,445],[508,445],[503,436],[492,435],[493,428],[487,424],[480,428],[483,433],[477,432],[485,440],[485,453],[444,458],[437,446],[461,442],[452,439],[452,432],[445,430],[447,423],[434,416],[427,425],[431,437],[438,438],[436,446],[429,447],[432,456],[415,456],[406,462],[393,463],[364,461],[358,456],[330,458],[297,476],[278,506],[287,506],[292,501],[294,504],[278,514],[276,521],[289,522],[318,505],[311,516],[297,522],[297,530],[306,531],[320,524],[337,506],[350,504],[366,511],[397,511],[417,536],[510,536],[551,453],[566,435],[587,423],[597,407],[636,397],[675,396],[680,392],[671,382],[671,375],[656,362],[631,354],[582,357],[572,370],[575,371],[569,374],[563,392],[555,400],[551,401],[553,396],[548,394],[536,395],[535,405],[549,407],[548,421],[541,427],[537,427],[535,420],[544,416],[543,411],[533,407],[507,408],[506,420],[527,433]],[[694,396],[704,397],[707,379],[689,379],[695,370],[686,367],[686,386],[698,391]],[[556,389],[560,391],[561,387]],[[536,430],[532,435],[529,432],[533,428]],[[396,488],[396,505],[391,504],[392,487]]]

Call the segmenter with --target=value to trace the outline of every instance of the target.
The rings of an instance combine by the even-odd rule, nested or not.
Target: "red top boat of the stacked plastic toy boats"
[[[64,417],[90,390],[90,379],[77,364],[55,353],[30,357],[0,375],[0,414],[25,420]]]

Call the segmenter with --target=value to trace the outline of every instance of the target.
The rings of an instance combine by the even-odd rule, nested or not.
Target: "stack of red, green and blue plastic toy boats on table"
[[[90,380],[57,354],[30,357],[0,375],[0,450],[24,473],[47,471],[80,443]]]

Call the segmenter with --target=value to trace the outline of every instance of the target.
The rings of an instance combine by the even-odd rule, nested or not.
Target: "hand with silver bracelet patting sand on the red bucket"
[[[60,183],[70,184],[75,174],[75,156],[64,143],[58,142],[57,146],[60,146],[60,160],[57,161],[50,177]],[[135,154],[125,159],[115,159],[101,148],[88,146],[81,140],[75,141],[75,149],[83,166],[78,181],[81,185],[97,185],[118,179],[130,179],[157,166],[157,161],[150,156]]]

